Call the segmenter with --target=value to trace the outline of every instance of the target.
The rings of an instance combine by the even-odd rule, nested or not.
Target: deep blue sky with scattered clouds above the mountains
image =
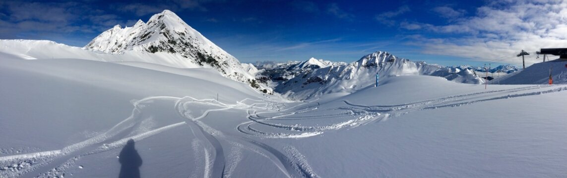
[[[567,47],[567,2],[533,1],[2,1],[0,38],[84,46],[116,24],[168,9],[241,62],[353,62],[374,51],[446,66],[539,62]]]

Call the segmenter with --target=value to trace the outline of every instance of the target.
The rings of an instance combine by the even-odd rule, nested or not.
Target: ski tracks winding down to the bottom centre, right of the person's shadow
[[[246,101],[253,101],[251,105],[246,104]],[[213,110],[205,110],[202,113],[197,113],[195,115],[194,111],[191,110],[191,106],[194,104],[201,104],[201,105],[209,105],[209,106],[217,106],[220,108],[213,109]],[[255,112],[255,110],[269,110],[275,111],[281,110],[281,103],[274,103],[274,102],[267,102],[263,103],[262,101],[252,100],[252,99],[244,99],[243,101],[237,102],[236,105],[227,105],[225,103],[218,102],[214,99],[195,99],[192,97],[184,97],[179,99],[176,102],[175,108],[177,112],[184,118],[192,120],[194,124],[189,124],[193,127],[197,127],[202,133],[206,140],[214,147],[214,163],[211,170],[209,168],[205,168],[205,172],[212,172],[210,177],[230,177],[231,173],[234,171],[236,165],[242,159],[242,153],[240,150],[242,148],[246,148],[251,150],[255,153],[260,154],[261,156],[272,160],[272,162],[284,173],[287,177],[313,177],[312,175],[316,175],[314,171],[309,168],[309,171],[305,171],[304,167],[308,166],[306,164],[298,164],[299,160],[290,159],[281,151],[278,151],[274,147],[268,146],[261,142],[251,140],[246,137],[235,137],[235,136],[225,136],[222,134],[221,131],[218,131],[214,128],[209,127],[205,123],[199,121],[202,118],[205,118],[211,111],[221,111],[227,109],[238,109],[238,110],[247,110],[248,112]],[[231,153],[229,153],[229,159],[226,160],[224,158],[224,149],[222,144],[219,142],[220,140],[226,141],[232,147]],[[234,140],[238,140],[240,142],[235,142]],[[248,145],[244,146],[242,143]],[[208,159],[207,159],[208,160]],[[226,162],[230,162],[228,165]],[[302,163],[306,163],[303,161]],[[207,167],[207,166],[205,166]],[[308,172],[308,173],[306,173]],[[204,177],[209,177],[208,175],[204,175]]]

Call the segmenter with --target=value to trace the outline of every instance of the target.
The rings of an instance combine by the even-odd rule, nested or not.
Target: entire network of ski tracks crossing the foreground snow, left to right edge
[[[548,89],[549,88],[549,89]],[[343,128],[355,128],[369,123],[387,120],[392,117],[408,114],[413,111],[431,110],[444,107],[458,107],[473,103],[493,101],[531,95],[562,92],[567,87],[555,85],[525,86],[513,89],[491,90],[486,92],[452,95],[436,99],[405,103],[401,105],[357,105],[349,101],[341,101],[344,106],[320,109],[306,102],[293,107],[286,107],[282,103],[273,101],[260,101],[244,99],[235,105],[227,105],[214,99],[196,99],[192,97],[148,97],[132,101],[134,109],[129,118],[121,121],[108,131],[92,138],[63,147],[60,150],[39,151],[18,155],[0,157],[0,177],[54,177],[65,175],[67,168],[74,166],[78,159],[92,154],[120,148],[130,139],[141,141],[147,137],[162,133],[169,129],[188,125],[194,140],[192,150],[197,165],[202,170],[196,170],[191,177],[230,177],[235,171],[238,162],[242,160],[243,149],[251,150],[271,160],[287,177],[318,177],[309,166],[307,160],[297,149],[283,146],[285,153],[278,149],[252,140],[246,136],[261,138],[303,138],[323,134],[327,131],[337,131]],[[175,110],[180,116],[188,120],[150,129],[146,124],[155,124],[151,120],[141,120],[140,114],[147,105],[157,100],[175,101]],[[250,104],[247,104],[250,103]],[[192,110],[192,107],[214,108],[207,110]],[[210,112],[222,110],[243,110],[247,112],[249,121],[236,125],[236,130],[244,133],[243,137],[227,136],[209,125],[201,122]],[[329,114],[330,113],[330,114]],[[264,116],[264,115],[273,116]],[[310,115],[302,115],[310,114]],[[319,115],[318,115],[319,114]],[[326,125],[302,126],[302,121],[332,119]],[[293,123],[293,124],[283,124]],[[131,131],[133,127],[142,128],[143,131]],[[136,133],[129,137],[119,137],[124,132]],[[277,132],[281,131],[281,132]],[[224,146],[223,146],[223,143]],[[225,148],[230,150],[225,156]]]

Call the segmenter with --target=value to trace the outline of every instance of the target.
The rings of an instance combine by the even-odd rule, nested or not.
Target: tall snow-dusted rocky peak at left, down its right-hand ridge
[[[170,10],[151,16],[147,23],[138,20],[133,27],[116,25],[94,38],[84,49],[110,54],[123,54],[126,51],[170,53],[187,59],[183,62],[192,63],[192,66],[215,68],[230,79],[255,83],[254,77],[244,70],[238,59],[213,44]]]

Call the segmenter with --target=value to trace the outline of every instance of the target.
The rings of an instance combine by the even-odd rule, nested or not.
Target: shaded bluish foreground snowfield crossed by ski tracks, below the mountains
[[[291,102],[207,68],[0,55],[0,177],[567,175],[567,85],[392,75]]]

